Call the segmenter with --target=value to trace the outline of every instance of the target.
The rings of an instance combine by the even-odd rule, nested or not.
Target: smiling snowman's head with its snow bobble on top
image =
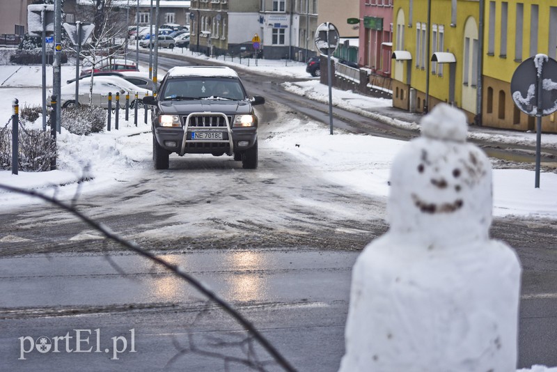
[[[466,144],[466,116],[438,104],[424,116],[421,128],[421,137],[410,141],[393,161],[390,231],[427,245],[487,239],[491,164],[482,150]]]

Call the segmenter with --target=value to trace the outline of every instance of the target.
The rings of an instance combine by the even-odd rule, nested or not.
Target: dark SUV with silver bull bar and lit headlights
[[[168,155],[223,154],[258,164],[257,125],[253,105],[237,73],[223,66],[184,66],[168,70],[157,98],[143,103],[152,110],[152,157],[156,169],[168,169]]]

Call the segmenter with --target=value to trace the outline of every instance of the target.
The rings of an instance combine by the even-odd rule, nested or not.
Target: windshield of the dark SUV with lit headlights
[[[246,93],[238,79],[185,77],[168,79],[161,92],[163,100],[244,100]]]

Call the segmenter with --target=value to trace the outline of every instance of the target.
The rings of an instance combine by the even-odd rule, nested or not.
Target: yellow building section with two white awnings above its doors
[[[393,12],[393,106],[423,112],[448,102],[472,122],[479,1],[395,0]]]

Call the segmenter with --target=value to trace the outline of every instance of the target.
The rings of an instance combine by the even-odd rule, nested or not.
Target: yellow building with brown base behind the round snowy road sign
[[[512,75],[536,54],[556,59],[556,0],[485,1],[482,122],[489,127],[535,130],[535,117],[515,106]],[[542,131],[557,132],[555,114],[542,118]]]

